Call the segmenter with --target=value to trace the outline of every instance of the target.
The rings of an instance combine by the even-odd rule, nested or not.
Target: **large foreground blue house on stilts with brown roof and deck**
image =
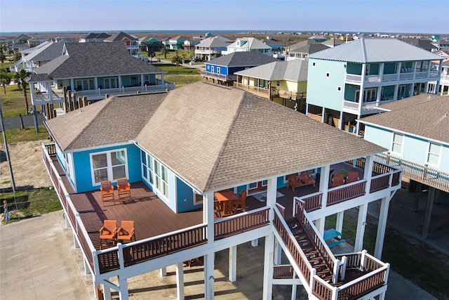
[[[384,298],[389,264],[380,256],[389,202],[401,182],[400,169],[373,160],[385,148],[252,93],[203,81],[168,93],[107,98],[46,127],[55,143],[43,145],[43,161],[98,299],[112,299],[112,291],[128,299],[128,278],[158,269],[164,276],[173,265],[177,298],[184,299],[183,261],[198,257],[203,298],[214,299],[215,253],[229,251],[234,282],[253,275],[236,272],[237,246],[255,251],[250,244],[257,247],[259,239],[261,299],[272,299],[274,284],[292,285],[294,292],[299,285],[317,299]],[[329,188],[331,169],[342,166],[360,178]],[[316,181],[288,187],[286,176],[301,171]],[[119,178],[127,178],[134,201],[102,203],[100,183],[116,185]],[[250,190],[258,186],[265,194],[256,198]],[[220,217],[243,190],[241,212]],[[225,194],[229,198],[219,197]],[[372,256],[362,251],[363,236],[368,204],[379,200]],[[337,214],[341,231],[347,209],[358,209],[354,253],[335,256],[323,240],[326,217]],[[134,221],[135,241],[100,249],[105,220]],[[347,288],[335,287],[342,284]]]

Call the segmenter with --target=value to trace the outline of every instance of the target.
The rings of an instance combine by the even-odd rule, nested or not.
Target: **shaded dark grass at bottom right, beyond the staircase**
[[[356,237],[358,209],[344,211],[343,238],[354,244]],[[337,215],[326,218],[326,230],[335,228]],[[377,219],[368,214],[363,239],[363,249],[373,254],[377,234]],[[390,263],[391,269],[415,283],[438,299],[449,299],[449,258],[424,242],[407,237],[398,230],[387,226],[385,230],[382,261]]]

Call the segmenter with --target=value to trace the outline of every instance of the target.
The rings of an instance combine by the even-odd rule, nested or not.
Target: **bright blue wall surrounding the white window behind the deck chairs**
[[[88,192],[89,190],[98,190],[100,185],[92,185],[91,173],[91,153],[110,151],[126,148],[128,159],[128,181],[130,183],[141,181],[140,171],[140,150],[134,144],[119,145],[95,150],[74,152],[74,171],[76,176],[76,191],[78,193]]]

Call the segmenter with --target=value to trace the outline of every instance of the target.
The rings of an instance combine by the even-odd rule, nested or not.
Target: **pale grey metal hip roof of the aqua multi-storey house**
[[[422,48],[398,39],[357,39],[338,47],[314,53],[309,58],[337,60],[352,63],[384,63],[407,60],[443,59]]]

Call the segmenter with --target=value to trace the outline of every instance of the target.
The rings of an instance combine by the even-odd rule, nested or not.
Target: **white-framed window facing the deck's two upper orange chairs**
[[[102,181],[128,178],[126,149],[92,153],[91,172],[93,185],[99,185]]]

